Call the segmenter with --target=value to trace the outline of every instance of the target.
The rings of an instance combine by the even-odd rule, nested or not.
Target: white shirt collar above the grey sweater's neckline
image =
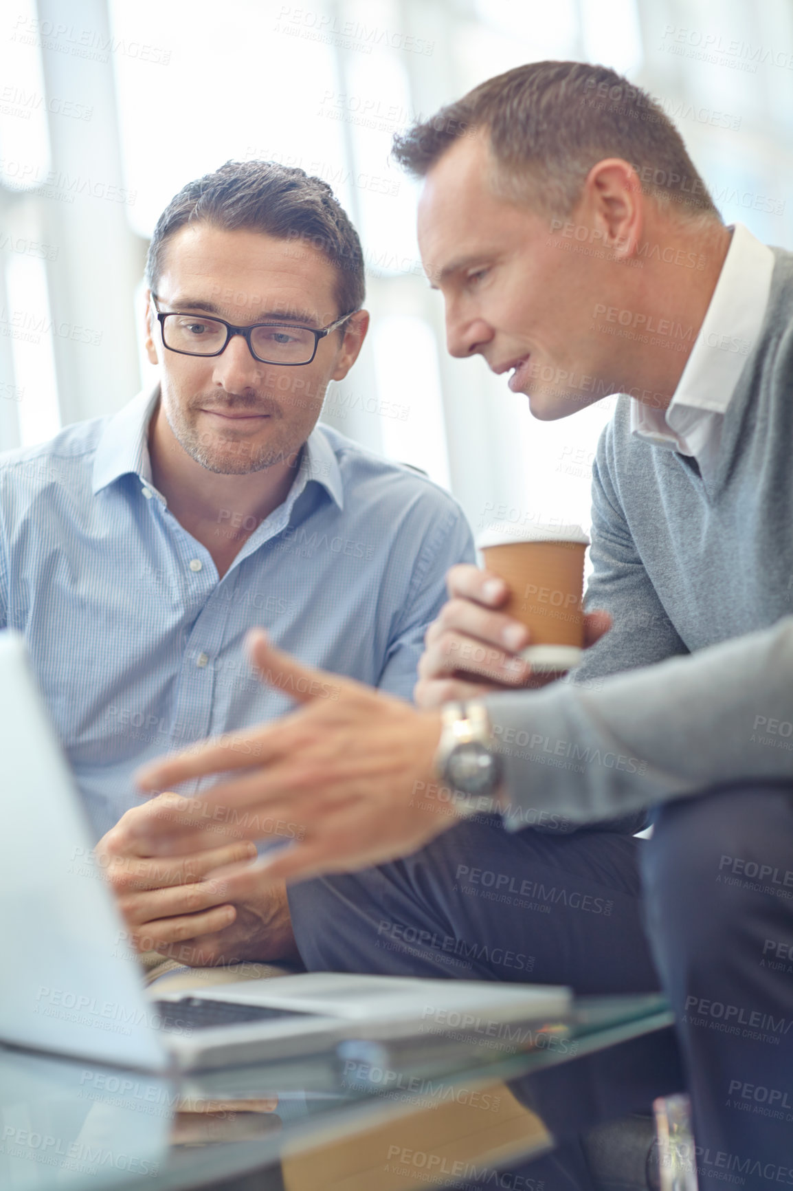
[[[747,357],[760,338],[774,254],[736,224],[719,279],[667,410],[631,401],[631,431],[655,445],[697,455],[720,426]],[[717,417],[708,417],[716,414]]]

